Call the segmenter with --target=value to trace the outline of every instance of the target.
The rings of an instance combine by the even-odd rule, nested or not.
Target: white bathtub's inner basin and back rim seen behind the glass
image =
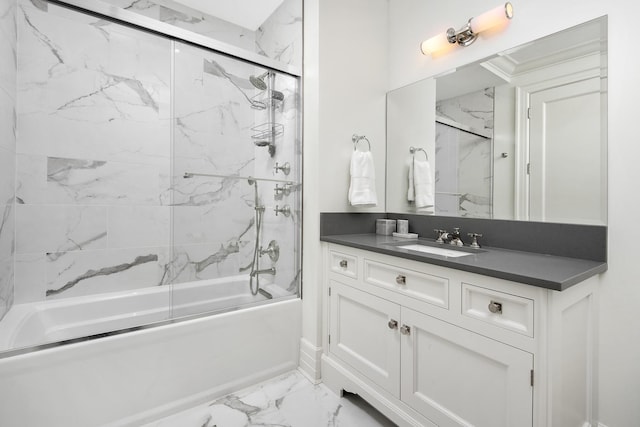
[[[15,304],[0,322],[0,351],[148,325],[172,318],[243,308],[267,301],[251,295],[247,276],[225,277]],[[291,297],[267,286],[274,298]]]

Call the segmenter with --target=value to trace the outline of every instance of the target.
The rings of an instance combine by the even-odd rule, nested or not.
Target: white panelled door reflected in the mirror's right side
[[[529,219],[606,222],[601,97],[599,77],[530,95]]]

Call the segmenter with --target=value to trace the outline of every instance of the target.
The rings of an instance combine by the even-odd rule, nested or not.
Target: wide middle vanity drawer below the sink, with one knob
[[[449,308],[449,279],[443,277],[365,259],[364,281]]]

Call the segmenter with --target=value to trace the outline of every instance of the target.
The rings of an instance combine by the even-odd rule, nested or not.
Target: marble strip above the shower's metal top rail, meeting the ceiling
[[[256,30],[171,0],[103,0],[130,12],[302,68],[302,1],[284,0]]]

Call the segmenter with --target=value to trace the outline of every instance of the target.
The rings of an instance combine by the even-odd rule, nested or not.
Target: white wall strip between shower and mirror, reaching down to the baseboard
[[[300,364],[318,379],[320,212],[385,211],[388,0],[305,0],[303,325]],[[347,201],[351,135],[371,141],[378,205]]]

